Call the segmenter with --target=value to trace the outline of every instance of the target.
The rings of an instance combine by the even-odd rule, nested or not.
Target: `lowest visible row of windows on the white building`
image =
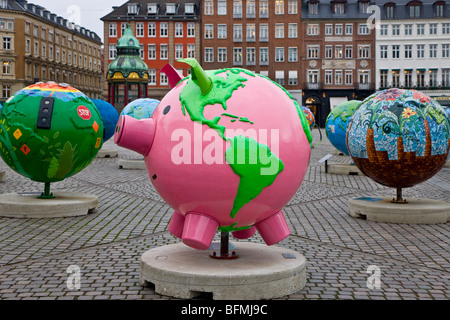
[[[441,69],[439,81],[438,69],[417,69],[417,70],[381,70],[380,87],[450,87],[450,69]]]

